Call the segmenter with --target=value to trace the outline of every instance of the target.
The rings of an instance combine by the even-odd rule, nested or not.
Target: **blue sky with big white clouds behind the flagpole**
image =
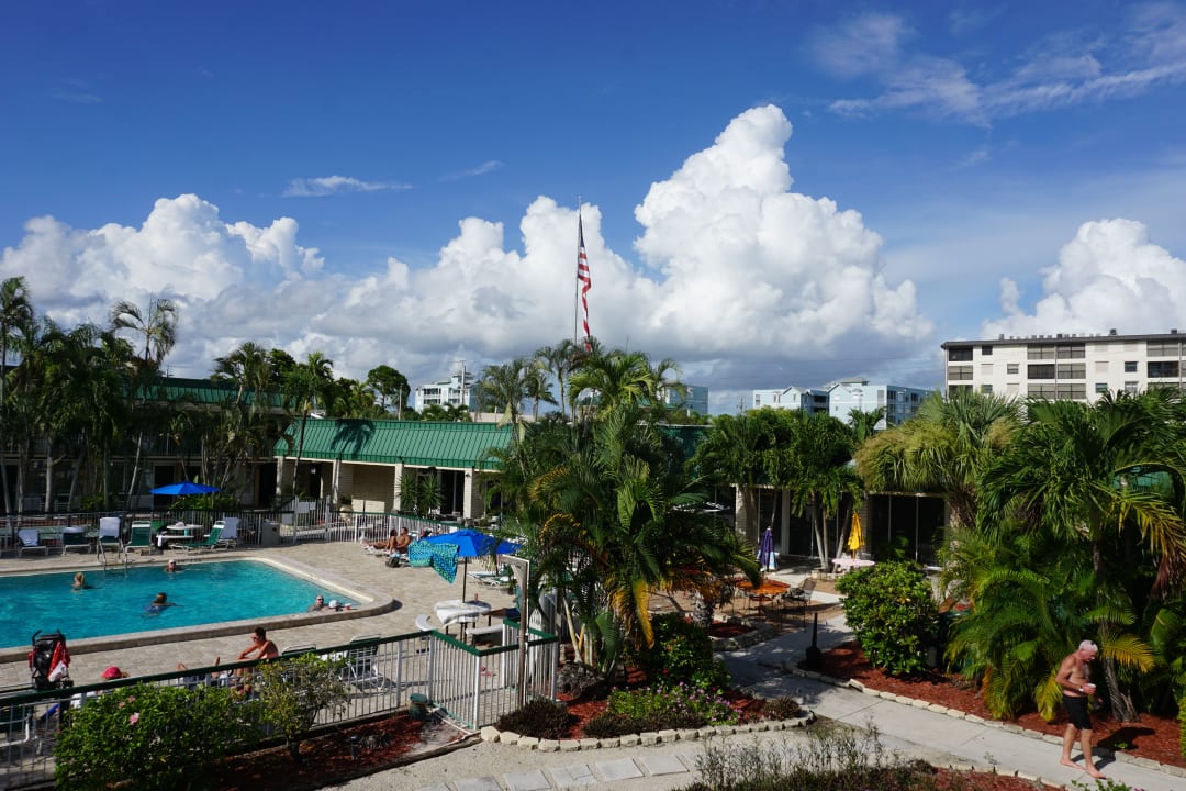
[[[573,331],[714,412],[1186,326],[1181,2],[0,7],[0,276],[414,382]]]

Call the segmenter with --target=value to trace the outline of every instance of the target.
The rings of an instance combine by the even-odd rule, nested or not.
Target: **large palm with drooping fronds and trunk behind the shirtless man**
[[[1158,564],[1154,591],[1180,579],[1186,568],[1182,470],[1169,466],[1166,448],[1180,440],[1175,395],[1107,396],[1095,407],[1073,401],[1032,401],[1026,422],[1008,449],[986,471],[978,527],[989,536],[1016,519],[1050,530],[1069,551],[1090,550],[1097,606],[1123,573],[1109,557],[1107,538],[1135,529]],[[1117,637],[1129,618],[1109,608],[1098,623],[1104,676],[1114,712],[1136,716],[1121,688]]]

